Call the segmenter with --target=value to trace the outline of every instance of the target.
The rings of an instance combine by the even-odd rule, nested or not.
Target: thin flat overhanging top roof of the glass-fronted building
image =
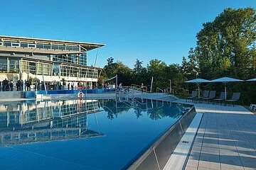
[[[105,46],[105,44],[92,43],[92,42],[75,42],[75,41],[67,41],[67,40],[50,40],[50,39],[42,39],[42,38],[24,38],[24,37],[14,37],[7,35],[0,35],[0,40],[18,40],[21,42],[44,42],[44,43],[56,43],[56,44],[65,44],[65,45],[80,45],[81,47],[88,50],[93,50],[97,47]]]

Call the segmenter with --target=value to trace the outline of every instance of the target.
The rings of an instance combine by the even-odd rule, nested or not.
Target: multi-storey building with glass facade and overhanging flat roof
[[[84,82],[92,87],[100,68],[87,66],[87,52],[104,44],[0,35],[0,81]]]

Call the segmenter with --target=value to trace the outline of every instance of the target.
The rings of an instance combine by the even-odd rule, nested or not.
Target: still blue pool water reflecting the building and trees
[[[189,108],[145,99],[0,103],[0,167],[122,169]]]

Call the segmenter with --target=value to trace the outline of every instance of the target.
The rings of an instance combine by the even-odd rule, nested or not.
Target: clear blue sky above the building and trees
[[[255,0],[0,1],[0,35],[99,42],[97,66],[108,57],[133,67],[151,59],[181,63],[202,23],[224,8],[256,7]],[[88,52],[88,64],[97,50]]]

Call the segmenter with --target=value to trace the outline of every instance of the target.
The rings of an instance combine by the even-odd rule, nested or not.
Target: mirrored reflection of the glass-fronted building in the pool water
[[[87,129],[98,101],[41,101],[0,107],[0,146],[102,136]]]

